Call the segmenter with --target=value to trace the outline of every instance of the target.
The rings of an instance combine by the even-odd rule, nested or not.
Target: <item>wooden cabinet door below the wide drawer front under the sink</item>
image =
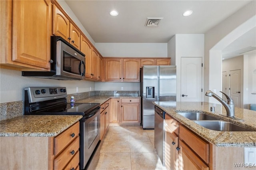
[[[180,170],[209,170],[209,167],[181,140],[179,140]]]

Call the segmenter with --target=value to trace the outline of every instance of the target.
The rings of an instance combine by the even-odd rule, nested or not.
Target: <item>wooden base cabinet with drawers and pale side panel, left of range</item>
[[[0,169],[79,169],[79,130],[77,122],[57,136],[1,136]]]

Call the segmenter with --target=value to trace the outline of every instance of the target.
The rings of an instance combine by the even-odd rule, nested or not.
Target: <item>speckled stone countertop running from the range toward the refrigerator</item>
[[[104,95],[104,96],[100,95],[100,96],[88,97],[86,99],[81,99],[76,101],[76,103],[100,103],[100,105],[102,105],[110,98],[120,98],[120,97],[132,98],[132,97],[140,97],[140,96],[139,95]]]

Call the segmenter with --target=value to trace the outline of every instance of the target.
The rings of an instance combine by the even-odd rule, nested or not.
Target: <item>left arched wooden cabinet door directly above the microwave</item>
[[[61,36],[69,42],[69,27],[70,23],[68,18],[53,4],[52,8],[52,34],[55,36]]]

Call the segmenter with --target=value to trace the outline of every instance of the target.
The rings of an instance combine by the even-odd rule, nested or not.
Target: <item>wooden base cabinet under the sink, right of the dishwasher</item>
[[[213,169],[211,145],[169,115],[166,114],[165,118],[166,169]]]

